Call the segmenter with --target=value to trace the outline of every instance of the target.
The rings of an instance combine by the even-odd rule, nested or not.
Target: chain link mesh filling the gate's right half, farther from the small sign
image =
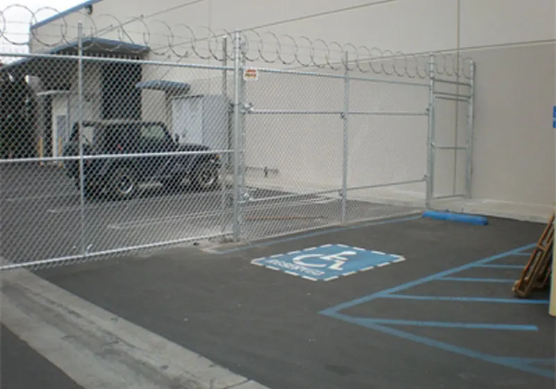
[[[353,73],[349,80],[347,197],[358,201],[358,206],[350,220],[422,210],[427,174],[427,84],[407,76],[369,79]],[[362,201],[372,206],[363,208]]]

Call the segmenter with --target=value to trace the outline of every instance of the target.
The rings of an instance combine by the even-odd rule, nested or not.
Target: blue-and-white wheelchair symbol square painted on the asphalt
[[[347,245],[322,245],[257,258],[251,263],[310,281],[332,281],[340,276],[350,276],[404,260],[402,256],[386,254],[382,251]]]

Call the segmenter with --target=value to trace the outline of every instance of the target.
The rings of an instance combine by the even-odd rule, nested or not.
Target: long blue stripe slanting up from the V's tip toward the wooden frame
[[[484,259],[481,259],[481,260],[477,260],[477,261],[472,262],[472,263],[467,263],[466,265],[461,265],[461,266],[458,266],[458,267],[454,267],[450,270],[445,270],[444,272],[439,272],[439,273],[436,273],[436,274],[432,274],[430,276],[423,277],[422,279],[417,279],[415,281],[411,281],[411,282],[408,282],[408,283],[404,283],[402,285],[395,286],[393,288],[389,288],[389,289],[386,289],[386,290],[382,290],[380,292],[373,293],[372,295],[367,295],[367,296],[359,297],[357,299],[353,299],[351,301],[346,301],[342,304],[338,304],[338,305],[333,306],[331,308],[324,309],[320,313],[322,313],[323,315],[330,315],[330,314],[336,313],[338,311],[341,311],[345,308],[350,308],[352,306],[363,304],[363,303],[366,303],[366,302],[374,300],[374,299],[379,299],[380,297],[384,297],[384,296],[389,295],[391,293],[400,292],[402,290],[406,290],[406,289],[412,288],[414,286],[421,285],[423,283],[427,283],[429,281],[434,281],[434,280],[440,279],[443,276],[449,276],[450,274],[455,274],[455,273],[461,272],[463,270],[471,269],[471,268],[473,268],[477,265],[482,265],[484,263],[489,263],[493,260],[497,260],[497,259],[500,259],[500,258],[505,258],[506,256],[510,256],[510,255],[515,254],[517,252],[520,252],[520,251],[523,251],[523,250],[526,250],[526,249],[530,249],[531,247],[534,247],[535,245],[536,245],[536,243],[532,243],[530,245],[525,245],[523,247],[518,247],[517,249],[506,251],[505,253],[501,253],[501,254],[497,254],[495,256],[491,256],[489,258],[484,258]]]

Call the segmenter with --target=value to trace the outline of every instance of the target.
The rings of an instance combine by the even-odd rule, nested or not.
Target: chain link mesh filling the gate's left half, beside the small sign
[[[245,88],[246,236],[338,222],[343,80],[261,71]]]

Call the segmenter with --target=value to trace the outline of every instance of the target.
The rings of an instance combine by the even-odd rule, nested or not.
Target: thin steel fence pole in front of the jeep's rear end
[[[81,213],[81,255],[87,255],[85,242],[85,174],[83,171],[83,24],[77,24],[77,49],[78,49],[78,69],[77,69],[77,90],[78,90],[78,120],[79,120],[79,192],[80,192],[80,213]]]

